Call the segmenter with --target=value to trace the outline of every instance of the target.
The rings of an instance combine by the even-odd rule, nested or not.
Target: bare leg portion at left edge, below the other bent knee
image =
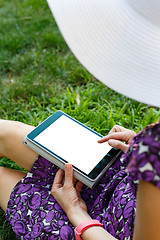
[[[25,175],[18,170],[0,167],[0,207],[5,212],[12,189]]]

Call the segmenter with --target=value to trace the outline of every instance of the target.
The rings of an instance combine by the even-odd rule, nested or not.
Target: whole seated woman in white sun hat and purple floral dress
[[[159,107],[160,0],[48,3],[72,51],[94,76]],[[31,130],[0,122],[1,156],[29,170],[25,176],[0,168],[0,205],[17,238],[75,239],[76,227],[77,239],[159,239],[160,122],[138,135],[115,126],[99,142],[110,140],[125,153],[93,190],[75,181],[70,164],[64,174],[23,146]]]

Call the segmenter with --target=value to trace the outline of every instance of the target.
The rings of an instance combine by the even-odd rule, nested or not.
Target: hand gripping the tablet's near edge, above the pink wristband
[[[51,190],[51,194],[67,215],[70,215],[70,212],[73,212],[77,207],[87,212],[87,206],[80,196],[83,184],[78,182],[74,187],[74,182],[72,165],[67,163],[65,164],[65,172],[59,169],[56,173]]]

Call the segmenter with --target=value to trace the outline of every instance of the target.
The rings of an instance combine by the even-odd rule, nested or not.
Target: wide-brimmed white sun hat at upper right
[[[160,106],[160,0],[47,0],[71,51],[111,89]]]

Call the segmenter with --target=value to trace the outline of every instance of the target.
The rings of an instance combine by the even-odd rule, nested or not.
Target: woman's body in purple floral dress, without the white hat
[[[99,143],[109,140],[110,145],[126,152],[92,190],[82,188],[80,182],[74,187],[70,164],[65,166],[64,179],[63,170],[57,172],[42,157],[36,160],[37,154],[22,144],[33,127],[1,120],[0,129],[1,156],[29,170],[26,175],[0,167],[0,205],[18,239],[74,239],[74,227],[91,218],[100,220],[104,228],[90,227],[82,239],[159,239],[160,123],[138,135],[114,126]]]

